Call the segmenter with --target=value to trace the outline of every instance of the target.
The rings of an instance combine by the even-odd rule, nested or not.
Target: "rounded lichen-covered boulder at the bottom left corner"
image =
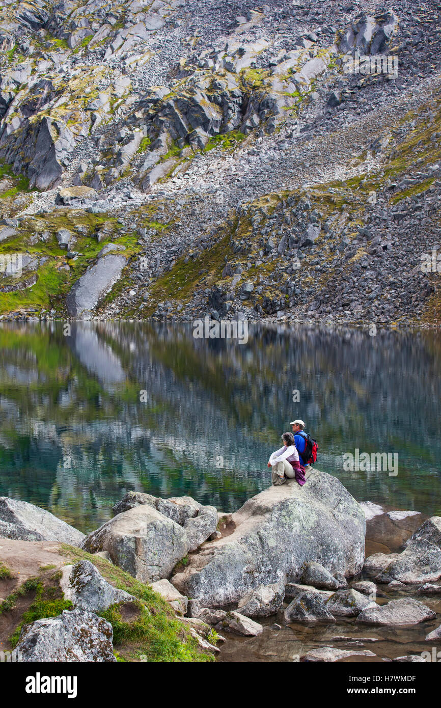
[[[93,612],[64,610],[58,617],[25,624],[16,651],[29,662],[113,662],[112,640],[110,622]]]

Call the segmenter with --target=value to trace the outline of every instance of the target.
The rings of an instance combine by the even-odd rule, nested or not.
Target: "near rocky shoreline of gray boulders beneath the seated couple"
[[[149,589],[151,598],[160,596],[159,603],[165,600],[171,621],[185,627],[179,641],[193,641],[208,658],[219,654],[224,635],[225,646],[235,636],[268,636],[271,619],[273,629],[294,631],[342,620],[365,631],[411,631],[424,623],[430,629],[426,641],[435,644],[441,639],[441,518],[418,525],[401,552],[365,558],[365,514],[369,519],[379,513],[374,507],[357,503],[336,477],[317,469],[303,488],[294,481],[270,487],[232,514],[190,497],[128,492],[113,507],[113,518],[87,536],[31,504],[0,498],[1,569],[22,558],[16,568],[29,582],[23,557],[29,564],[33,549],[36,558],[44,552],[45,561],[53,554],[55,564],[39,567],[58,569],[60,602],[67,603],[55,616],[23,622],[15,650],[22,661],[116,661],[120,637],[117,629],[115,646],[119,625],[113,613],[149,612],[145,604],[139,610],[139,587]],[[389,514],[394,520],[409,513]],[[72,562],[62,547],[64,553],[70,549]],[[115,578],[106,579],[110,569],[134,578],[138,596]],[[11,590],[8,573],[0,578],[0,593],[2,582]],[[0,637],[1,619],[11,612],[8,598],[17,593],[14,585],[0,598]],[[404,596],[385,601],[392,591]],[[350,648],[341,649],[341,641]],[[388,661],[372,647],[365,649],[364,641],[344,636],[299,658],[328,662],[351,656]],[[393,661],[425,659],[414,653]]]

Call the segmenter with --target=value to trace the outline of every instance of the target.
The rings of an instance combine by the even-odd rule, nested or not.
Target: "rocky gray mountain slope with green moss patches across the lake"
[[[2,0],[1,316],[439,324],[440,19]]]

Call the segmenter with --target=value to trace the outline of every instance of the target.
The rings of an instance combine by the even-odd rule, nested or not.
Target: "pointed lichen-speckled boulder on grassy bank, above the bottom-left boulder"
[[[110,585],[91,561],[79,561],[73,566],[64,566],[59,585],[64,599],[71,600],[78,610],[103,612],[110,605],[135,601],[125,590],[118,590]]]

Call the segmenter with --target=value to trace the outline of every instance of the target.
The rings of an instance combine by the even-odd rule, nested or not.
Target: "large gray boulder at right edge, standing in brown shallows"
[[[441,550],[424,538],[408,544],[375,578],[379,583],[425,583],[441,577]]]

